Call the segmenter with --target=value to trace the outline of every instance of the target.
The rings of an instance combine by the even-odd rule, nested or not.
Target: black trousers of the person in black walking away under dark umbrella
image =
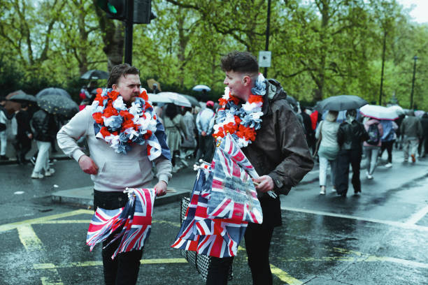
[[[361,149],[341,149],[337,155],[336,164],[336,191],[342,196],[348,192],[349,165],[352,167],[352,186],[354,192],[361,192],[361,181],[359,180],[359,170],[361,168]]]

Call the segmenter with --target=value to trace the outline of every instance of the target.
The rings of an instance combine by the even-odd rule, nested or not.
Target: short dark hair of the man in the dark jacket
[[[259,73],[259,64],[250,52],[229,52],[222,57],[222,70],[240,73]]]

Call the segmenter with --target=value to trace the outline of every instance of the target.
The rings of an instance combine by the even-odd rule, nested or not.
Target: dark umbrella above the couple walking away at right
[[[331,96],[315,105],[315,109],[322,112],[324,110],[343,111],[357,109],[368,104],[363,98],[355,95]]]

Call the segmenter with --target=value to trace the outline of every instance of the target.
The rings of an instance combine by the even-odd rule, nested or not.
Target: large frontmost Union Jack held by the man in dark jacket
[[[257,172],[229,133],[217,145],[211,168],[208,217],[262,224],[262,207],[250,177],[258,177]]]

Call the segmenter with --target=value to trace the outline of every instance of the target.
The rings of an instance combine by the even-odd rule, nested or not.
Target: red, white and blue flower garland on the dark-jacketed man
[[[237,142],[238,147],[247,147],[255,140],[256,130],[262,123],[263,96],[266,94],[267,80],[259,73],[255,87],[251,89],[248,101],[242,105],[239,98],[232,96],[229,87],[224,89],[224,95],[218,101],[220,109],[215,119],[215,138],[224,138],[230,133]]]

